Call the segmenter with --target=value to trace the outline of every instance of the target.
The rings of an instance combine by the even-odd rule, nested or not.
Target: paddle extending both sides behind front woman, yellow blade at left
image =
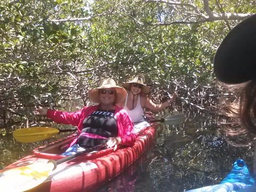
[[[164,122],[168,123],[170,125],[175,125],[181,123],[185,119],[184,114],[180,115],[172,115],[168,118],[162,118],[160,120],[149,120],[149,123],[154,122]],[[139,123],[139,122],[135,122]],[[24,128],[24,129],[18,129],[15,130],[12,134],[13,137],[21,143],[31,143],[31,142],[37,142],[41,140],[48,139],[56,134],[59,134],[60,132],[72,132],[76,131],[76,129],[67,129],[67,130],[59,130],[56,128],[51,127],[33,127],[33,128]]]

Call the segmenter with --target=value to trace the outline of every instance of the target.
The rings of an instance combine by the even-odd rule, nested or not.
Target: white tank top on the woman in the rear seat
[[[144,117],[143,117],[144,110],[140,105],[140,95],[138,95],[138,96],[139,96],[138,97],[138,102],[137,102],[137,105],[134,109],[129,110],[126,106],[127,105],[128,94],[126,95],[125,103],[124,103],[124,107],[123,107],[128,112],[128,115],[131,117],[133,122],[140,122],[140,121],[145,120]]]

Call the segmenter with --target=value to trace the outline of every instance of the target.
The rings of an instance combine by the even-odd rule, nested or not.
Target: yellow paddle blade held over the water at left
[[[60,131],[51,127],[32,127],[15,130],[12,135],[21,143],[41,141],[58,134]]]

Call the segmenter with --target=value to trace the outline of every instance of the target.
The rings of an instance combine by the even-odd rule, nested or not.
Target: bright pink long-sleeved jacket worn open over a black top
[[[48,109],[47,117],[57,123],[77,126],[78,132],[81,133],[81,130],[84,128],[83,121],[86,117],[92,114],[92,112],[96,111],[98,107],[98,105],[85,107],[76,112],[64,112]],[[136,139],[136,135],[134,133],[134,125],[131,118],[127,114],[126,110],[118,106],[115,108],[115,113],[117,118],[118,136],[122,140],[121,144],[126,146],[133,145]],[[102,138],[98,137],[97,135],[83,132],[83,135],[86,136],[86,134],[88,134],[87,136],[91,138]],[[75,142],[76,139],[70,144],[70,146],[75,144]]]

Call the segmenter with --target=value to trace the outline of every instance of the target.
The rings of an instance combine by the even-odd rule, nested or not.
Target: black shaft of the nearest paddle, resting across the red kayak
[[[53,163],[53,165],[54,165],[53,170],[54,170],[54,169],[57,167],[57,165],[59,165],[59,164],[65,162],[65,161],[69,161],[69,160],[71,160],[71,159],[73,159],[73,158],[75,158],[75,157],[77,157],[77,156],[81,156],[81,155],[83,155],[83,154],[88,154],[88,153],[90,153],[90,152],[92,152],[92,151],[99,150],[99,149],[103,148],[105,145],[106,145],[106,144],[98,144],[98,145],[95,145],[95,146],[93,146],[93,147],[90,147],[90,148],[85,149],[85,151],[79,151],[78,153],[76,153],[76,154],[74,154],[74,155],[66,156],[66,157],[64,157],[64,158],[62,158],[62,159],[59,159],[59,160],[57,160],[57,161],[55,161],[55,160],[53,160],[53,159],[50,159],[50,160],[48,161],[48,163]]]

